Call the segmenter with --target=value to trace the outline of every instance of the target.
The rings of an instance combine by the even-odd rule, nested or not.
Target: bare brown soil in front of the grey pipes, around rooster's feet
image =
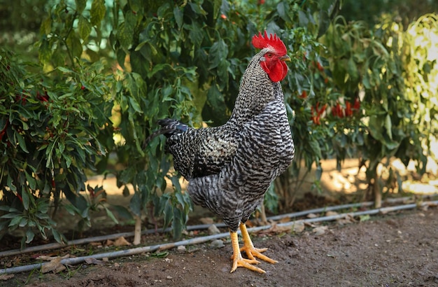
[[[231,244],[190,246],[166,258],[136,255],[59,274],[15,274],[0,286],[438,286],[438,209],[403,211],[341,225],[323,235],[253,234],[278,263],[266,274],[229,273]]]

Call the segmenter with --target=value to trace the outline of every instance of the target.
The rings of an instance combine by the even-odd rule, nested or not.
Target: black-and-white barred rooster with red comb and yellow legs
[[[274,179],[288,169],[295,154],[280,81],[290,61],[283,41],[267,32],[253,36],[261,49],[243,73],[232,116],[219,127],[194,129],[178,120],[159,120],[160,130],[147,141],[164,134],[165,148],[174,158],[174,168],[188,183],[195,204],[209,208],[229,228],[232,240],[232,269],[255,267],[255,258],[276,263],[255,248],[246,230],[246,221]],[[240,228],[243,246],[239,248]],[[243,258],[245,251],[248,259]]]

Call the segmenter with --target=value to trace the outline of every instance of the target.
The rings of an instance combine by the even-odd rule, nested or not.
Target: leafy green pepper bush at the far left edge
[[[1,50],[0,227],[25,228],[22,245],[37,231],[47,238],[50,230],[62,241],[51,218],[61,193],[85,221],[90,218],[79,192],[85,190],[85,171],[106,153],[97,136],[108,132],[112,106],[112,76],[102,74],[99,63],[77,71],[59,67],[51,77],[25,68]]]

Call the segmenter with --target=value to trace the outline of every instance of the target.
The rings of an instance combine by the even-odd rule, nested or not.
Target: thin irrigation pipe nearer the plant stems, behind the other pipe
[[[430,198],[431,195],[423,195],[423,198]],[[409,200],[412,200],[412,197],[398,197],[398,198],[388,198],[383,203],[386,204],[395,204],[400,202],[407,202]],[[309,209],[306,211],[298,211],[293,212],[290,214],[281,214],[278,216],[270,216],[267,218],[268,221],[279,221],[283,218],[298,218],[301,216],[306,216],[308,214],[319,214],[321,212],[326,211],[336,211],[341,209],[351,209],[351,208],[360,208],[360,207],[371,207],[374,204],[374,202],[359,202],[359,203],[352,203],[352,204],[341,204],[334,207],[321,207],[318,209]],[[226,228],[227,225],[225,223],[214,223],[217,228]],[[205,230],[209,228],[211,224],[199,224],[199,225],[190,225],[186,227],[187,231],[192,230]],[[158,232],[171,232],[171,228],[164,228],[158,230]],[[141,232],[141,235],[148,235],[155,233],[155,230],[144,230]],[[66,242],[66,244],[60,244],[60,243],[50,243],[50,244],[43,244],[39,246],[31,246],[23,249],[12,249],[8,251],[1,251],[0,252],[0,258],[4,256],[11,256],[11,255],[17,255],[17,254],[23,254],[23,253],[31,253],[31,252],[38,252],[38,251],[45,251],[49,249],[56,249],[56,248],[64,248],[66,246],[72,246],[72,245],[80,245],[80,244],[89,244],[91,242],[98,242],[98,241],[106,241],[106,240],[113,240],[118,239],[119,237],[133,237],[134,232],[120,232],[115,233],[112,235],[102,235],[98,237],[88,237],[83,239],[75,239],[75,240],[69,240]]]

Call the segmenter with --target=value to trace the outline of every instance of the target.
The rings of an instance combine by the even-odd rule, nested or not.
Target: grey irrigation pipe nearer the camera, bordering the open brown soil
[[[362,215],[373,215],[373,214],[387,214],[391,211],[399,211],[404,209],[414,209],[416,207],[429,207],[429,206],[437,206],[438,200],[430,201],[430,202],[423,202],[421,204],[404,204],[404,205],[398,205],[395,207],[383,207],[380,209],[370,209],[367,211],[355,211],[345,214],[336,214],[332,216],[321,216],[317,218],[306,218],[298,221],[290,221],[288,223],[280,223],[278,226],[286,227],[286,226],[293,226],[297,222],[303,222],[303,223],[316,223],[316,222],[322,222],[322,221],[334,221],[341,218],[346,218],[347,216],[362,216]],[[248,232],[258,232],[261,230],[267,230],[269,228],[272,228],[272,225],[264,225],[259,226],[256,228],[248,228]],[[239,231],[240,233],[240,231]],[[81,256],[76,258],[65,258],[62,259],[60,264],[62,265],[76,265],[80,264],[82,262],[85,262],[85,260],[94,258],[94,259],[103,259],[103,258],[118,258],[121,256],[128,256],[128,255],[137,255],[141,253],[148,253],[148,252],[154,252],[154,251],[162,251],[167,250],[170,248],[175,248],[178,246],[186,246],[186,245],[193,245],[193,244],[201,244],[206,241],[211,241],[213,239],[221,239],[229,236],[229,232],[223,232],[218,235],[209,235],[206,237],[197,237],[193,239],[187,239],[183,241],[177,241],[173,243],[167,243],[167,244],[157,244],[153,246],[143,246],[143,247],[136,247],[136,248],[130,248],[127,250],[122,251],[112,251],[108,253],[99,253],[94,255],[88,255],[88,256]],[[43,265],[49,264],[50,262],[40,262],[36,264],[31,265],[25,265],[25,266],[18,266],[18,267],[10,267],[6,269],[0,269],[0,275],[1,274],[13,274],[18,272],[28,272],[32,269],[41,268]]]

